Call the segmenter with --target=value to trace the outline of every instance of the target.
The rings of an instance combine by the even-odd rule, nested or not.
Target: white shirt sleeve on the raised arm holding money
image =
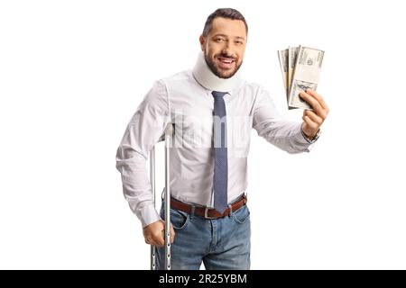
[[[276,110],[271,95],[259,88],[254,103],[254,130],[278,148],[296,154],[309,152],[315,140],[305,138],[301,130],[302,122],[287,121]]]

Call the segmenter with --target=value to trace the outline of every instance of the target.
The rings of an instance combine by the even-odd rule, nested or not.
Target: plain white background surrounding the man
[[[289,155],[253,130],[252,268],[406,268],[401,1],[2,1],[0,268],[149,268],[115,150],[227,6],[249,25],[245,78],[291,120],[276,50],[326,50],[313,150]]]

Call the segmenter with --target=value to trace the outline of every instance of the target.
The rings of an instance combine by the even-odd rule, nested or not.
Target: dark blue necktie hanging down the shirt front
[[[227,148],[225,92],[213,91],[214,96],[214,206],[223,213],[227,207]]]

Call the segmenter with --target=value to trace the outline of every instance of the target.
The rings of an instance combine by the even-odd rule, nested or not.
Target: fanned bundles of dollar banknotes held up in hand
[[[312,110],[309,103],[300,98],[300,91],[317,89],[324,51],[309,47],[289,47],[278,50],[283,85],[286,90],[288,108]]]

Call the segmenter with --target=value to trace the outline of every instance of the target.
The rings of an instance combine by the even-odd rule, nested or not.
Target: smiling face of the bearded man
[[[243,64],[246,45],[245,24],[241,20],[217,17],[208,37],[200,36],[203,50],[211,71],[220,78],[229,78]]]

